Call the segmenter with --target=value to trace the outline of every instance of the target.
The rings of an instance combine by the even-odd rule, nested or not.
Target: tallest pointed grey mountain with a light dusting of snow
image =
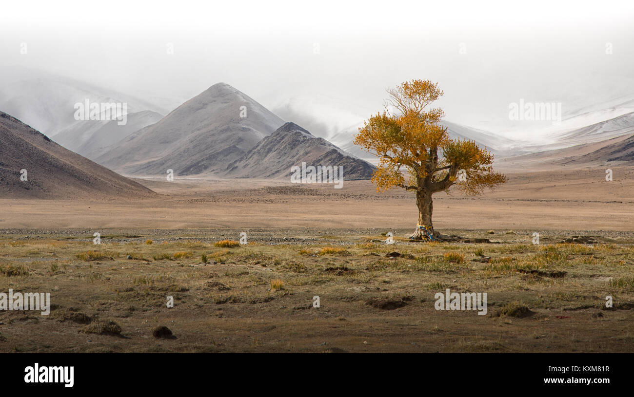
[[[247,117],[241,117],[245,106]],[[224,170],[284,122],[231,85],[218,83],[159,122],[109,148],[96,161],[133,175]]]

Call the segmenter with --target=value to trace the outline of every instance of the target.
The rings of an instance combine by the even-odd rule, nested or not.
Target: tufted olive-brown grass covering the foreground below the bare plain
[[[597,351],[599,344],[601,351],[634,351],[627,327],[597,325],[631,321],[630,310],[602,310],[608,294],[618,308],[634,303],[630,246],[366,245],[339,237],[327,246],[316,239],[230,249],[150,236],[169,243],[109,241],[108,251],[93,253],[86,251],[91,242],[3,246],[0,291],[51,291],[56,310],[80,314],[63,322],[56,310],[37,322],[5,317],[12,322],[3,327],[8,343],[0,351],[321,351],[323,341],[346,351]],[[392,251],[401,255],[389,258]],[[487,292],[489,314],[437,312],[434,294],[446,288]],[[166,307],[167,296],[173,308]],[[321,297],[320,309],[313,296]],[[406,304],[394,310],[364,304],[372,299]],[[604,317],[593,317],[597,312]],[[91,336],[98,343],[78,335],[86,324],[75,317],[91,319],[84,332],[99,334]],[[111,319],[123,337],[116,327],[107,331]],[[178,343],[155,341],[152,330],[160,324],[169,325]],[[67,337],[51,341],[51,332]],[[360,334],[361,341],[342,337]]]

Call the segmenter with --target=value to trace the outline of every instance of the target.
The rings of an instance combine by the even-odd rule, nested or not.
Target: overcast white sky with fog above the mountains
[[[431,79],[447,120],[526,137],[537,124],[508,120],[521,98],[564,112],[634,99],[633,21],[631,0],[12,1],[0,72],[40,68],[175,103],[226,82],[331,132],[381,110],[386,87]]]

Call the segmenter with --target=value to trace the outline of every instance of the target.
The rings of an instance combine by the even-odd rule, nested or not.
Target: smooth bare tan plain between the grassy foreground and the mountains
[[[434,195],[439,229],[634,230],[634,168],[509,173],[482,196]],[[254,180],[139,180],[162,195],[140,201],[8,200],[1,229],[412,228],[411,193],[377,193],[368,180],[292,185]]]

